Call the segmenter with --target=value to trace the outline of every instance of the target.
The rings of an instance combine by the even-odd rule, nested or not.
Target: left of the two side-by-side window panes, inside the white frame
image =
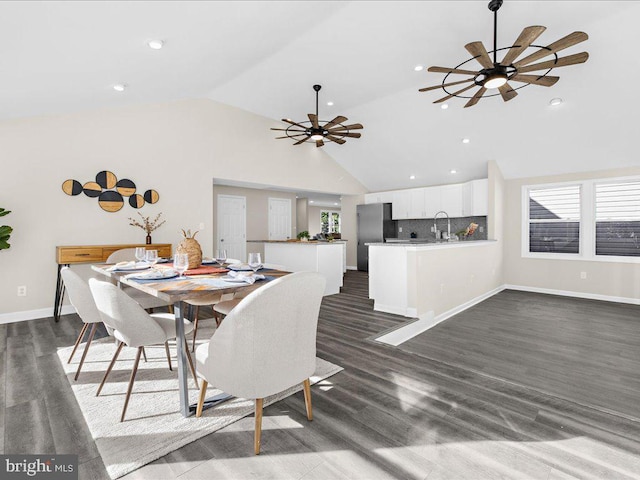
[[[580,186],[529,190],[529,252],[580,253]]]

